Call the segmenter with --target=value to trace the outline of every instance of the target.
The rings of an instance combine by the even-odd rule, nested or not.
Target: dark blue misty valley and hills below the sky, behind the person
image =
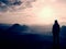
[[[52,25],[0,24],[0,45],[7,49],[53,49]],[[61,29],[59,47],[66,48],[66,26]]]

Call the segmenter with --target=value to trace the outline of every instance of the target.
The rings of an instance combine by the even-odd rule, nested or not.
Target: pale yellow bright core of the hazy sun
[[[53,14],[53,10],[51,8],[44,8],[41,10],[41,17],[51,17]]]

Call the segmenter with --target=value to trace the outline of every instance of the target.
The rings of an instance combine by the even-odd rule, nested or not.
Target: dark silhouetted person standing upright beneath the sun
[[[59,24],[57,20],[55,20],[55,23],[53,25],[53,45],[54,47],[59,46]]]

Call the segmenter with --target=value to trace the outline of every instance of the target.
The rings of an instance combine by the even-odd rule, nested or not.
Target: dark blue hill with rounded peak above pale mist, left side
[[[20,33],[26,32],[28,29],[29,29],[29,26],[26,25],[13,24],[11,27],[7,29],[7,33],[20,34]]]

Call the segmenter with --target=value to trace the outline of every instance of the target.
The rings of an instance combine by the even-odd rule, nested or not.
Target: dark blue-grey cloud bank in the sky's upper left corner
[[[31,8],[35,0],[0,0],[0,12]]]

